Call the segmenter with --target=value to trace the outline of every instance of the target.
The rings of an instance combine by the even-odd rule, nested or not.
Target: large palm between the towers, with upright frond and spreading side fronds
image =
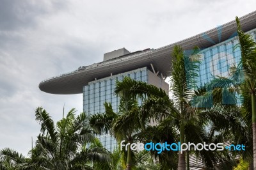
[[[197,61],[195,58],[193,59],[196,53],[193,52],[192,56],[184,58],[180,47],[174,47],[173,51],[175,58],[172,73],[173,99],[170,99],[162,89],[156,88],[156,86],[145,82],[136,82],[129,78],[124,79],[120,86],[116,88],[118,91],[129,91],[126,93],[131,94],[134,98],[143,98],[139,116],[142,131],[140,132],[141,135],[139,133],[137,136],[138,140],[164,142],[170,141],[170,136],[173,136],[172,141],[175,142],[177,139],[173,134],[176,131],[176,133],[179,133],[180,143],[185,141],[196,144],[204,143],[204,141],[218,143],[224,140],[223,136],[227,136],[227,133],[222,136],[215,136],[214,132],[230,131],[236,133],[237,130],[244,130],[239,128],[241,123],[237,115],[240,112],[238,112],[237,107],[222,104],[214,104],[209,109],[192,107],[191,100],[198,93],[189,88],[193,85],[192,83],[196,77]],[[191,70],[185,70],[184,60],[190,62]],[[152,120],[158,121],[156,127],[147,126]],[[205,129],[206,126],[212,127],[210,132]],[[161,129],[163,130],[161,131]],[[170,154],[170,152],[168,153]],[[227,152],[196,151],[195,153],[203,159],[208,169],[217,164],[227,163],[227,161],[232,162],[232,158],[228,157]],[[175,153],[172,153],[172,155],[175,155]],[[164,161],[164,157],[159,155],[159,162],[164,163]],[[189,163],[188,159],[187,162]],[[186,167],[184,153],[179,154],[178,166],[179,169]],[[189,167],[189,164],[187,166]]]

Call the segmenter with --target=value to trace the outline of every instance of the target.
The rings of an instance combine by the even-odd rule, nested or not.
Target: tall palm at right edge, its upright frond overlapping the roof
[[[252,36],[245,34],[236,17],[237,34],[241,50],[241,65],[243,66],[244,84],[250,93],[252,107],[252,132],[253,132],[253,167],[256,169],[256,43]]]

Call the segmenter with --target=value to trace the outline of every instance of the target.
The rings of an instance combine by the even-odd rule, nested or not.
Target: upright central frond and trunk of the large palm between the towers
[[[198,49],[195,49],[198,52]],[[179,131],[180,131],[180,144],[185,143],[185,125],[188,114],[193,111],[189,102],[191,100],[191,86],[193,86],[196,76],[198,76],[198,60],[193,62],[189,60],[188,56],[184,56],[184,52],[181,47],[175,46],[173,48],[173,71],[171,78],[171,90],[173,92],[173,100],[177,104],[177,111],[180,116]],[[191,62],[192,61],[192,62]],[[189,70],[186,69],[186,64],[189,66]],[[178,170],[186,169],[185,155],[179,154]]]

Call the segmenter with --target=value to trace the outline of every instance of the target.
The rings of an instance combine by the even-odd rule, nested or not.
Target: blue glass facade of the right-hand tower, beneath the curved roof
[[[256,29],[249,31],[256,41]],[[202,50],[200,72],[197,86],[204,85],[219,75],[228,78],[230,66],[237,65],[241,59],[241,50],[235,46],[239,43],[237,36]]]

